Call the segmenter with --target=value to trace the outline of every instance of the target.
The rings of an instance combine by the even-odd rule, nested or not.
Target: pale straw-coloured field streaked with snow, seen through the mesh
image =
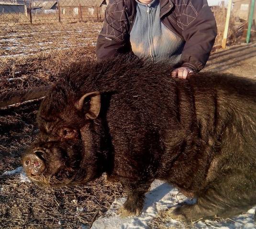
[[[96,45],[102,23],[0,27],[0,57],[19,57]]]

